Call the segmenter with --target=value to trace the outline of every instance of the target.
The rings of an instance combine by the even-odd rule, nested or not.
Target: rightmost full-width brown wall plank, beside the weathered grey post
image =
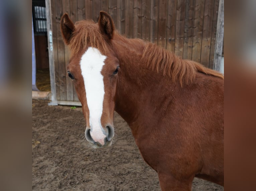
[[[211,48],[211,34],[212,34],[212,21],[214,0],[205,0],[205,13],[204,13],[204,26],[203,26],[203,39],[201,48],[201,63],[205,67],[209,67],[210,48]]]

